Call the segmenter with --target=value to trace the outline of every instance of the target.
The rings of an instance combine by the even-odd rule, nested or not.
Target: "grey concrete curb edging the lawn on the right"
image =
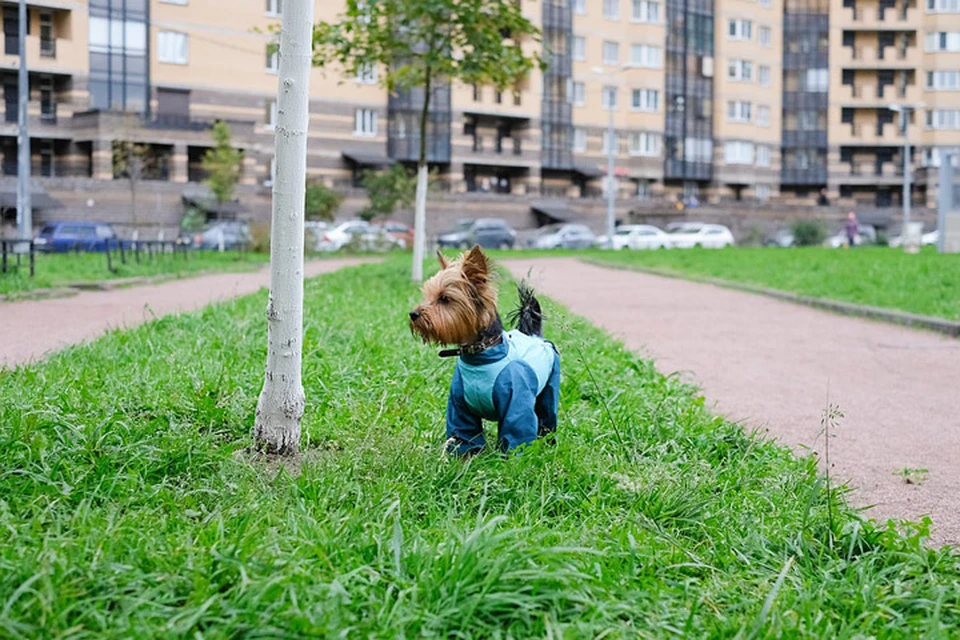
[[[802,304],[808,307],[832,311],[834,313],[840,313],[843,315],[869,318],[871,320],[880,320],[881,322],[889,322],[891,324],[899,324],[917,329],[926,329],[927,331],[936,331],[937,333],[942,333],[952,338],[960,338],[960,322],[954,322],[952,320],[944,320],[942,318],[934,318],[932,316],[922,316],[916,313],[897,311],[895,309],[869,307],[866,305],[854,304],[852,302],[841,302],[839,300],[829,300],[827,298],[802,296],[796,293],[790,293],[788,291],[780,291],[779,289],[768,289],[766,287],[759,287],[757,285],[733,282],[731,280],[721,280],[719,278],[710,278],[708,276],[688,275],[678,273],[676,271],[668,271],[665,269],[656,269],[637,265],[616,264],[612,262],[606,262],[602,259],[598,260],[596,258],[580,258],[580,261],[596,267],[603,267],[605,269],[637,271],[663,278],[676,278],[678,280],[689,280],[691,282],[710,284],[717,287],[723,287],[725,289],[733,289],[735,291],[743,291],[744,293],[767,296],[769,298],[776,298],[777,300],[784,300],[794,304]]]

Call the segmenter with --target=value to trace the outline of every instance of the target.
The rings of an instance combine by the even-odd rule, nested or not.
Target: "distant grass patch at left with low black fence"
[[[57,253],[37,254],[35,276],[30,277],[27,256],[21,258],[16,267],[16,257],[9,257],[13,268],[9,273],[0,273],[0,295],[17,294],[33,289],[63,286],[73,282],[93,282],[114,280],[135,276],[170,275],[181,277],[200,271],[238,271],[254,269],[269,260],[269,256],[256,253],[216,251],[192,251],[187,259],[183,254],[154,256],[148,259],[141,252],[140,263],[134,256],[127,254],[126,264],[120,262],[119,253],[113,253],[114,271],[107,269],[107,258],[103,253]]]

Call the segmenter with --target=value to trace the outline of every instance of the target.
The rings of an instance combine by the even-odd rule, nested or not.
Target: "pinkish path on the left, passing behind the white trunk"
[[[304,272],[310,278],[362,262],[319,260],[307,263]],[[269,284],[270,272],[265,267],[255,273],[222,273],[70,298],[0,303],[0,368],[39,360],[115,327],[133,327],[155,317],[192,311]]]

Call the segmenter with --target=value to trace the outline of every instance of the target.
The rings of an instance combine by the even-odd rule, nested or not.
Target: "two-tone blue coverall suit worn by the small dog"
[[[483,448],[483,420],[499,425],[501,450],[530,444],[557,428],[560,356],[554,346],[519,331],[476,355],[461,355],[450,383],[447,437],[455,453]]]

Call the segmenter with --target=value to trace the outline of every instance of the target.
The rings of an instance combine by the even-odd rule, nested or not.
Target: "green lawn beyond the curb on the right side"
[[[850,250],[595,251],[591,259],[710,276],[802,295],[960,320],[960,255]]]

